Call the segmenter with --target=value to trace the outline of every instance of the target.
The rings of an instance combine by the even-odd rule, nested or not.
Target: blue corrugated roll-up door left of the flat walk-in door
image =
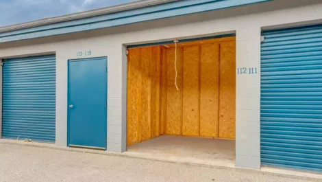
[[[3,60],[2,137],[55,141],[55,56]]]

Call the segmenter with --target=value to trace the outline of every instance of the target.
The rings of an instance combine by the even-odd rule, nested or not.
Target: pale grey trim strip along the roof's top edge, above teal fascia
[[[40,25],[49,25],[52,23],[60,23],[60,22],[64,22],[64,21],[84,19],[84,18],[88,18],[88,17],[92,17],[92,16],[99,16],[99,15],[110,14],[110,13],[114,13],[114,12],[134,10],[137,8],[145,8],[147,6],[158,5],[158,4],[162,4],[162,3],[169,3],[169,2],[173,2],[173,1],[180,1],[180,0],[143,0],[143,1],[141,0],[141,1],[134,1],[134,2],[130,2],[130,3],[123,3],[120,5],[112,5],[112,6],[108,6],[106,8],[99,8],[99,9],[88,10],[88,11],[84,11],[84,12],[65,14],[62,16],[53,16],[50,18],[40,19],[40,20],[36,20],[36,21],[29,21],[26,23],[18,23],[18,24],[14,24],[14,25],[8,25],[8,26],[0,27],[0,33],[11,32],[14,30],[23,30],[23,29],[30,28],[30,27],[38,27]]]

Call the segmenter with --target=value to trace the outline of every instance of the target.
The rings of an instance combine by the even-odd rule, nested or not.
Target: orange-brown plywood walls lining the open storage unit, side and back
[[[234,37],[129,49],[127,144],[164,134],[234,139],[235,69]]]

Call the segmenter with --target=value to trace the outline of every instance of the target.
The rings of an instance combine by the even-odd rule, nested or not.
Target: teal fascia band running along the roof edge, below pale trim
[[[224,8],[232,8],[252,3],[262,3],[272,0],[186,0],[174,1],[146,8],[126,10],[101,16],[92,16],[85,19],[77,19],[51,25],[42,25],[23,30],[0,33],[0,43],[20,41],[29,38],[40,38],[43,36],[54,36],[100,28],[127,25],[143,21],[164,19],[173,16],[182,16],[198,12],[208,12]]]

